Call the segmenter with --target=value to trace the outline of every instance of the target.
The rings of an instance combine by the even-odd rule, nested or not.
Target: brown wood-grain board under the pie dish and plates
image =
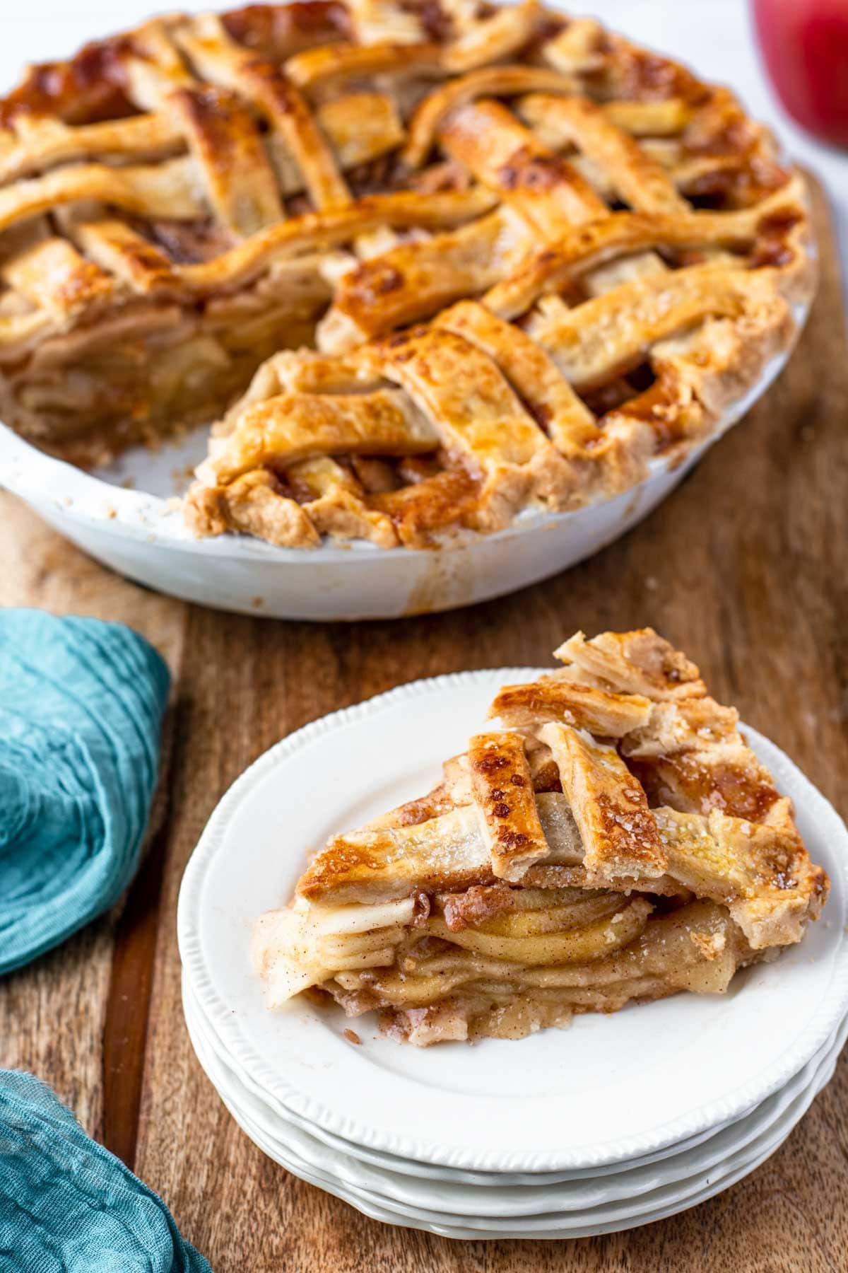
[[[767,1164],[693,1211],[572,1242],[451,1242],[366,1220],[254,1148],[191,1050],[175,937],[181,876],[206,819],[282,735],[402,681],[548,663],[578,628],[656,626],[848,812],[848,349],[820,195],[816,205],[819,298],[768,396],[629,536],[510,598],[357,626],[216,614],[118,578],[0,495],[0,602],[122,620],[174,675],[144,866],[122,908],[0,983],[0,1064],[52,1083],[165,1198],[216,1273],[848,1265],[845,1060]]]

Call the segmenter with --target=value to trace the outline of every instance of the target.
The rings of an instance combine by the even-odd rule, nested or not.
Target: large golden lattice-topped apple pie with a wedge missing
[[[168,15],[0,102],[0,416],[81,465],[217,419],[200,536],[426,547],[610,498],[812,288],[734,95],[533,0]]]

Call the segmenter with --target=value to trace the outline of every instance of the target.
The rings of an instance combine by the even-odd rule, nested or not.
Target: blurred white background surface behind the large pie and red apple
[[[557,0],[549,0],[556,4]],[[1,0],[0,92],[28,61],[66,57],[86,39],[133,25],[163,9],[236,8],[236,0]],[[784,115],[760,66],[745,0],[585,0],[568,11],[596,14],[641,43],[690,62],[703,79],[730,84],[750,113],[770,123],[787,150],[830,191],[843,278],[848,275],[848,153],[819,145]]]

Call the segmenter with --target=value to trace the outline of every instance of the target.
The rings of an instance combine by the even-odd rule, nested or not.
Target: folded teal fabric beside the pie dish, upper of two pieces
[[[0,610],[0,973],[132,878],[168,686],[161,657],[121,624]]]

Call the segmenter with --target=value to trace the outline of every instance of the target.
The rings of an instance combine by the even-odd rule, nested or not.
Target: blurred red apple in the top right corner
[[[848,146],[848,0],[753,0],[760,50],[802,129]]]

